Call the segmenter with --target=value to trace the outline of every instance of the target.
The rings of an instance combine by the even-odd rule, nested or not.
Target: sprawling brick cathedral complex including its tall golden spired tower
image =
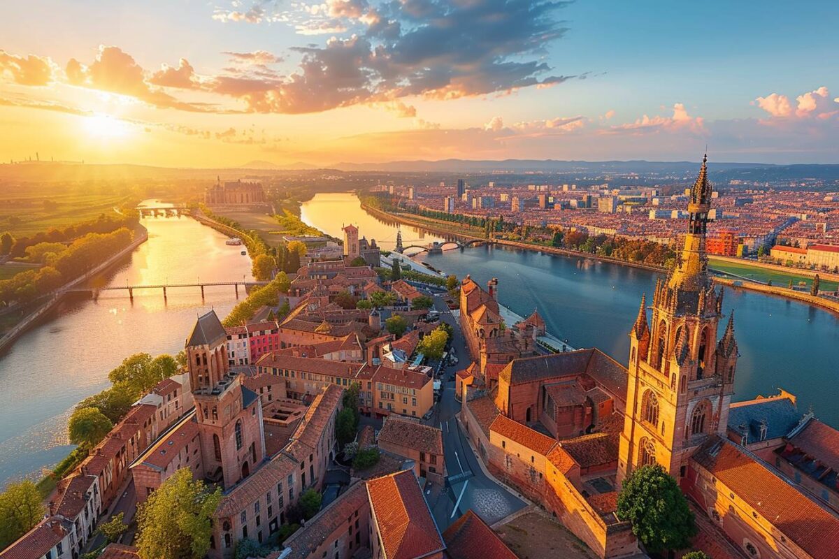
[[[639,551],[616,514],[618,493],[651,464],[680,485],[700,529],[695,547],[715,559],[839,557],[839,432],[801,417],[784,391],[732,404],[737,340],[708,272],[706,162],[675,266],[649,307],[641,298],[626,367],[581,349],[519,355],[491,374],[482,352],[497,287],[466,279],[461,329],[476,363],[458,373],[470,380],[458,385],[461,424],[492,474],[604,559]]]

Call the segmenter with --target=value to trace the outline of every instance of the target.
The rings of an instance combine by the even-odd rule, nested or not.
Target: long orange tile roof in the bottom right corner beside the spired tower
[[[751,453],[720,437],[711,437],[691,458],[743,499],[758,515],[817,559],[836,559],[839,518],[780,478]]]

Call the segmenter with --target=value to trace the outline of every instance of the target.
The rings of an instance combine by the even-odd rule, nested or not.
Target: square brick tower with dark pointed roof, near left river
[[[259,396],[227,365],[227,332],[215,311],[198,318],[185,344],[201,463],[207,479],[230,488],[265,456]]]

